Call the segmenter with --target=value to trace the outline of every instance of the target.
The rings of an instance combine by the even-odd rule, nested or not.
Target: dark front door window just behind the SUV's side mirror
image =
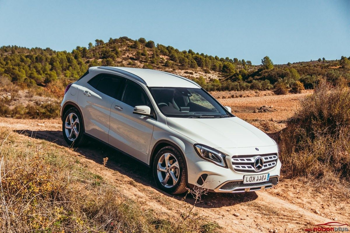
[[[152,109],[152,105],[149,102],[144,90],[131,81],[127,82],[121,101],[130,105],[131,107],[146,105]]]

